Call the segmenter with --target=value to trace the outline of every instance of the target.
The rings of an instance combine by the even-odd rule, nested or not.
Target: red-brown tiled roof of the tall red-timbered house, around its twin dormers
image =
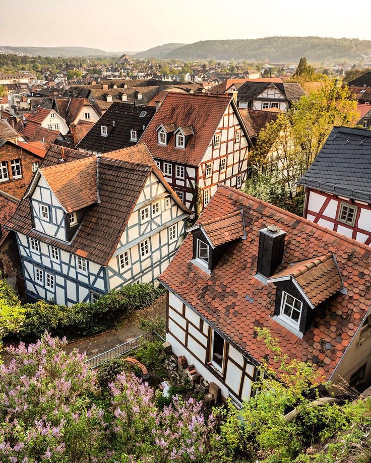
[[[153,116],[141,139],[155,159],[198,166],[209,146],[215,130],[230,103],[231,98],[211,95],[185,95],[169,92]],[[159,125],[192,125],[194,135],[184,149],[175,148],[174,135],[167,145],[157,143]]]

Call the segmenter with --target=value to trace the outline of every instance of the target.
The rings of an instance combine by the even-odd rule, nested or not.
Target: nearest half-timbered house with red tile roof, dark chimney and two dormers
[[[325,380],[366,387],[371,379],[371,253],[368,246],[219,186],[160,275],[166,340],[224,398],[249,399],[257,367],[282,353]]]

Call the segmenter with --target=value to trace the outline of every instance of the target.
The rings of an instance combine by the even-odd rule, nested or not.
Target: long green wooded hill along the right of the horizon
[[[371,55],[371,40],[324,37],[265,37],[246,40],[206,40],[183,45],[163,58],[246,59],[250,61],[297,62],[301,56],[310,61],[362,60]]]

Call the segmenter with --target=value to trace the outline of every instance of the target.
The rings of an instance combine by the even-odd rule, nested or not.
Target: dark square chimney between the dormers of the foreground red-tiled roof
[[[257,272],[271,277],[282,262],[286,232],[276,225],[260,230]]]

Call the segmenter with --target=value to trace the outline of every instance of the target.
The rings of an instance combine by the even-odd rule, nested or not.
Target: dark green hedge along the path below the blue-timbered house
[[[9,289],[6,291],[9,293]],[[13,332],[9,333],[9,337],[33,342],[45,331],[53,337],[66,336],[70,340],[95,335],[115,326],[121,318],[128,316],[134,310],[151,305],[164,293],[162,287],[154,288],[153,285],[141,283],[110,291],[94,304],[80,302],[72,307],[66,307],[41,300],[34,304],[25,304],[22,306],[24,319]],[[1,291],[0,296],[2,296]],[[14,299],[12,301],[14,303]]]

